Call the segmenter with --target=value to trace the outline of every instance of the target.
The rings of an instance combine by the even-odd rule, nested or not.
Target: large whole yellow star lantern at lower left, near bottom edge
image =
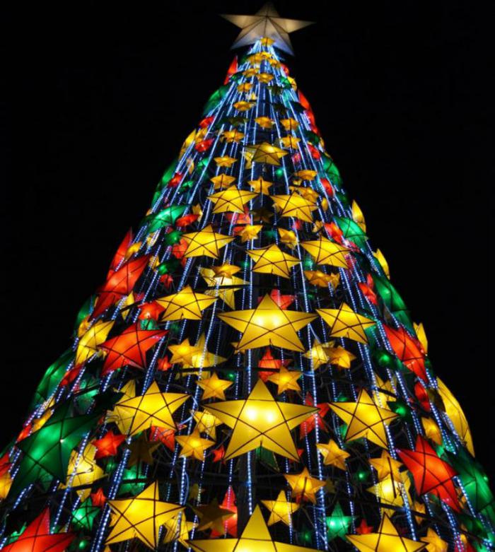
[[[158,548],[161,525],[184,510],[184,506],[159,500],[158,481],[132,498],[108,500],[108,505],[112,511],[112,530],[105,544],[136,538],[152,550]]]

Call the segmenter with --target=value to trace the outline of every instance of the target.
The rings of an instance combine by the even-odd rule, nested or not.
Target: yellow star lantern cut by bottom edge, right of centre
[[[360,552],[419,552],[426,546],[400,535],[387,514],[383,514],[377,533],[346,535],[346,539]]]

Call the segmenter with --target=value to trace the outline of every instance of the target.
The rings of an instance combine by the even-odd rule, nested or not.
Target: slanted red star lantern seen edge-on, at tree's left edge
[[[137,259],[128,261],[111,276],[98,290],[98,300],[96,301],[95,310],[91,314],[92,318],[100,316],[108,307],[115,305],[125,295],[129,295],[138,281],[139,276],[143,274],[144,269],[148,266],[149,257],[144,255]]]

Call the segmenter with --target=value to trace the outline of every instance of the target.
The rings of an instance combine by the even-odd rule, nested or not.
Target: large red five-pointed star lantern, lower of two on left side
[[[102,375],[110,374],[124,366],[146,368],[146,351],[163,339],[168,330],[140,329],[139,322],[122,331],[122,334],[108,339],[100,345],[107,352],[103,363]]]

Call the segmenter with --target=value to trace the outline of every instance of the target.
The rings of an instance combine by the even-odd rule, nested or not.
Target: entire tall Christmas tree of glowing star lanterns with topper
[[[243,48],[0,455],[0,550],[494,549],[424,327],[286,65]]]

